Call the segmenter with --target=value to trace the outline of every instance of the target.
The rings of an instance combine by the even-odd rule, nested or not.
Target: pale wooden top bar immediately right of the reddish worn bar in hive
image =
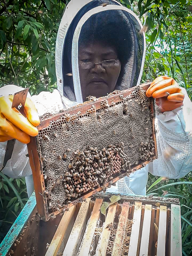
[[[141,208],[142,208],[142,202],[135,202],[128,256],[137,255],[139,227],[141,223]]]

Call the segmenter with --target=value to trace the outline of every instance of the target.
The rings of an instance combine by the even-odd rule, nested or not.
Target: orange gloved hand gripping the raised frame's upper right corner
[[[146,96],[155,98],[161,112],[181,107],[184,99],[184,94],[177,82],[167,76],[157,77],[147,89]]]

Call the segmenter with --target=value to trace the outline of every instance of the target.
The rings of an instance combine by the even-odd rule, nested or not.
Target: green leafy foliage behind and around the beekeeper
[[[80,0],[79,0],[80,1]],[[66,0],[0,1],[0,86],[56,88],[55,40]],[[142,82],[168,75],[192,96],[192,13],[190,0],[119,0],[148,28]],[[176,182],[176,183],[175,183]],[[182,182],[181,184],[178,182]],[[178,197],[183,255],[192,255],[192,176],[166,180],[149,175],[148,194]],[[174,185],[175,184],[175,185]],[[168,185],[163,187],[164,185]],[[0,173],[0,242],[27,201],[25,179]]]

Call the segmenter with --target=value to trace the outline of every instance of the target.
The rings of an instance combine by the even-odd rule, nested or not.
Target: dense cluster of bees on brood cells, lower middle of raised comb
[[[109,145],[102,150],[88,147],[84,151],[75,152],[66,172],[67,198],[77,198],[79,193],[105,185],[113,179],[114,174],[120,172],[125,163],[126,155],[122,145]]]

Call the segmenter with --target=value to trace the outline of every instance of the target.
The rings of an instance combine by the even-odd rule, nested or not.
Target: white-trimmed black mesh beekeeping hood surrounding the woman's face
[[[106,5],[107,4],[107,5]],[[115,86],[125,90],[141,81],[145,34],[137,16],[114,0],[71,0],[63,14],[56,40],[57,87],[70,101],[83,102],[79,78],[79,47],[99,38],[114,46],[121,62]]]

